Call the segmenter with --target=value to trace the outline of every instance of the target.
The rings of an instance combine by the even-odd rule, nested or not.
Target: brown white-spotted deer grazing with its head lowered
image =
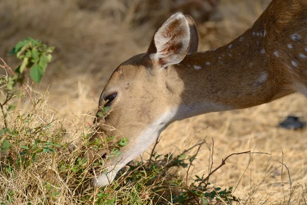
[[[93,187],[111,183],[173,121],[258,106],[296,92],[307,96],[307,2],[273,0],[231,43],[197,50],[193,19],[178,12],[155,32],[146,53],[114,71],[99,100],[112,112],[98,123],[100,131],[124,136],[128,144],[120,156],[105,161],[107,174],[95,173]]]

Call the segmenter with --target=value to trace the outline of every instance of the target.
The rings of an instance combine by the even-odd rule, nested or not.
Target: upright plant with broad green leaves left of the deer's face
[[[5,133],[9,132],[9,125],[7,122],[7,117],[9,112],[14,110],[16,113],[17,108],[20,105],[20,98],[24,96],[23,89],[25,73],[30,69],[30,75],[35,83],[39,83],[42,79],[43,73],[45,73],[48,63],[52,59],[51,53],[53,52],[54,47],[47,47],[45,44],[41,44],[39,40],[34,40],[33,38],[26,38],[16,44],[16,46],[11,50],[8,55],[16,54],[17,59],[21,60],[19,66],[13,71],[1,58],[4,66],[2,68],[11,72],[12,76],[1,76],[1,88],[7,92],[6,99],[4,103],[0,103],[0,107],[3,113],[5,129],[0,133],[1,140],[1,151],[6,152],[11,144],[6,140]],[[16,89],[16,84],[19,84],[19,90]],[[27,91],[27,90],[26,90]],[[28,92],[28,91],[27,91]],[[31,98],[31,95],[28,92],[28,95]],[[12,98],[18,97],[17,105],[10,104],[8,109],[5,109],[5,106],[10,102]],[[32,99],[32,98],[31,98]],[[33,100],[32,100],[33,102]],[[34,102],[33,102],[34,103]],[[2,136],[4,135],[4,136]]]

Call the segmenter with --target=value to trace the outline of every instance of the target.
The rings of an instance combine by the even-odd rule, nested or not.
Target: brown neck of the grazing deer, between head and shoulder
[[[168,84],[180,93],[179,119],[253,107],[293,93],[273,72],[266,31],[257,30],[221,48],[188,54],[168,68],[169,75],[176,76]]]

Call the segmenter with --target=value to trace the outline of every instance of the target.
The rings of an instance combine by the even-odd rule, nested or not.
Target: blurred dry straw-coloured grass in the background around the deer
[[[174,1],[165,2],[0,0],[0,56],[5,57],[18,40],[28,36],[55,45],[53,63],[35,90],[45,93],[48,88],[46,109],[52,114],[43,118],[60,117],[70,133],[80,133],[75,129],[91,123],[87,115],[96,112],[99,94],[113,70],[128,57],[144,52],[157,24],[171,14],[169,5]],[[268,2],[221,1],[209,21],[197,22],[200,50],[222,46],[244,32]],[[6,57],[6,61],[15,64],[11,58]],[[307,130],[283,130],[277,125],[289,114],[306,119],[307,111],[302,109],[306,106],[302,96],[292,95],[255,108],[175,122],[162,133],[163,143],[158,144],[157,151],[178,153],[186,144],[204,138],[210,144],[213,138],[213,168],[233,152],[269,152],[270,156],[233,156],[210,181],[216,186],[235,187],[235,195],[249,204],[299,204],[303,195],[307,197],[307,190],[300,187],[307,183]],[[191,179],[195,174],[208,173],[210,158],[210,150],[202,147],[190,170]],[[290,177],[281,161],[287,165]],[[181,170],[182,175],[185,173]],[[31,176],[23,177],[32,180]]]

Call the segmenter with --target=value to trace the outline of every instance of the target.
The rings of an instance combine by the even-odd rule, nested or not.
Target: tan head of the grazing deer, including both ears
[[[99,107],[107,101],[105,106],[111,112],[105,120],[98,119],[99,126],[107,135],[127,138],[128,144],[121,148],[120,156],[106,161],[108,174],[96,173],[92,186],[112,182],[116,173],[144,152],[171,122],[183,118],[182,113],[178,115],[182,104],[178,86],[184,85],[168,67],[180,63],[197,49],[193,19],[175,13],[153,35],[146,53],[131,57],[114,71],[99,99]],[[107,150],[99,151],[95,157],[103,157],[105,153]],[[90,151],[88,156],[94,157]]]

